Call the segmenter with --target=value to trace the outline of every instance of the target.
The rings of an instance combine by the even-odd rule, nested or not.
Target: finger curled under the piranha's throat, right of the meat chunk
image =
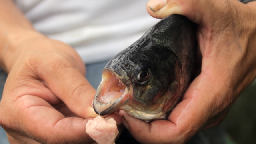
[[[146,144],[169,144],[178,140],[180,143],[184,143],[184,139],[176,131],[176,125],[170,121],[155,120],[147,123],[130,116],[123,110],[119,114],[124,117],[124,126],[138,142]]]

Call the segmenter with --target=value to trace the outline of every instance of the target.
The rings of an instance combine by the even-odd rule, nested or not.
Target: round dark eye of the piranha
[[[150,69],[148,67],[138,68],[134,73],[134,80],[136,82],[145,82],[150,78]]]

